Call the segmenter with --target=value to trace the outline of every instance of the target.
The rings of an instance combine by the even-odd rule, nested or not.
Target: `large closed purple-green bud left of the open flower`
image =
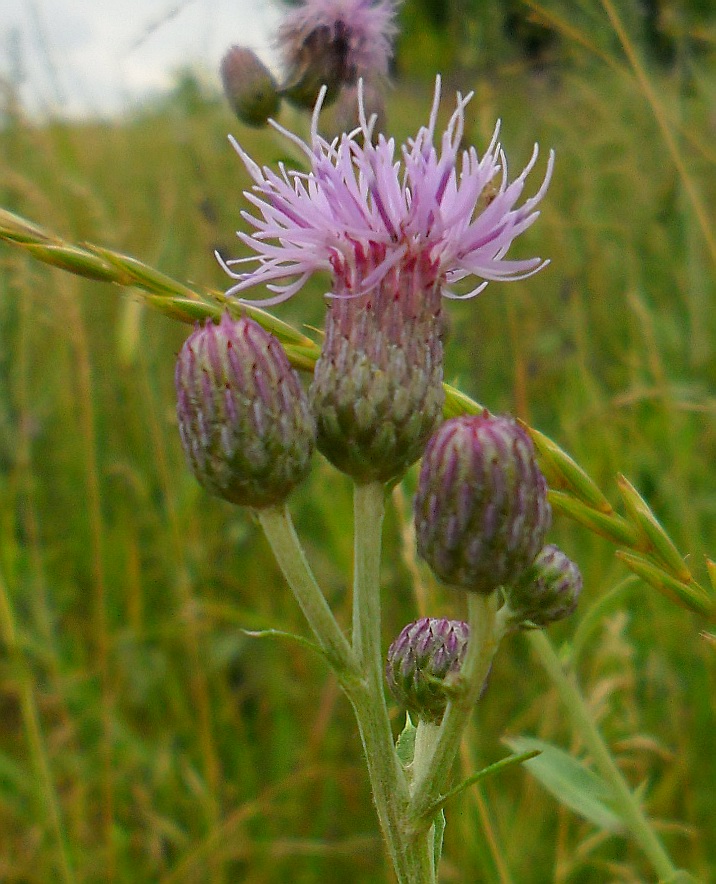
[[[197,327],[176,364],[187,462],[212,494],[257,509],[283,502],[309,469],[315,425],[279,341],[225,313]]]

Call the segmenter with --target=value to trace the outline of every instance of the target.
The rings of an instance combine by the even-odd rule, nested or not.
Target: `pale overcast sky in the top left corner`
[[[110,114],[172,83],[182,66],[216,81],[233,43],[272,61],[272,0],[0,0],[0,76],[33,113]]]

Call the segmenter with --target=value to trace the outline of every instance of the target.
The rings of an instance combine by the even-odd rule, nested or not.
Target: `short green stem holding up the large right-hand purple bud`
[[[502,638],[504,625],[497,614],[497,593],[468,594],[470,639],[455,697],[448,703],[429,762],[416,779],[408,811],[416,831],[432,822],[425,815],[445,789],[460,739],[475,708],[490,663]]]

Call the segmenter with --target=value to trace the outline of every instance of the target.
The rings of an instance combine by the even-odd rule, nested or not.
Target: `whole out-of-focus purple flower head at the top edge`
[[[359,77],[384,77],[396,7],[394,0],[305,0],[289,12],[277,37],[286,97],[310,108],[324,84],[332,100]]]

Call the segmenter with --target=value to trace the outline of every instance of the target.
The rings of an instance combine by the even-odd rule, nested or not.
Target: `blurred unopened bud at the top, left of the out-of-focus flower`
[[[276,81],[252,49],[232,46],[221,61],[221,80],[242,123],[265,126],[278,112],[281,99]]]

